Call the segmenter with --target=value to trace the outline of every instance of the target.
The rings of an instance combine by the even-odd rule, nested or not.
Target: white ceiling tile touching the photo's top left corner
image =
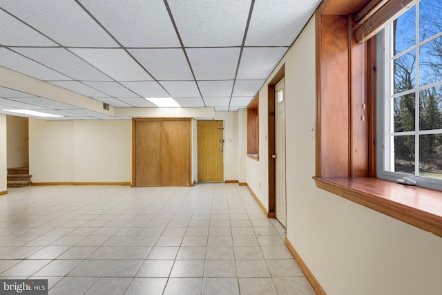
[[[1,7],[63,46],[118,46],[75,1],[23,2],[5,0]]]

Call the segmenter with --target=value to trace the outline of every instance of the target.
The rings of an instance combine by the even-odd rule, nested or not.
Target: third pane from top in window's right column
[[[419,93],[419,130],[442,129],[442,86]]]

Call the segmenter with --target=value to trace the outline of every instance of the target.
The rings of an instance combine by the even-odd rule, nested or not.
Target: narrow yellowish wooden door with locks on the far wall
[[[222,121],[198,121],[198,182],[224,182]]]

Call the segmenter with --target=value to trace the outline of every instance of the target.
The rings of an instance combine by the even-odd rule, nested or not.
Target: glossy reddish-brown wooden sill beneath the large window
[[[316,178],[325,189],[442,237],[442,193],[378,178]]]

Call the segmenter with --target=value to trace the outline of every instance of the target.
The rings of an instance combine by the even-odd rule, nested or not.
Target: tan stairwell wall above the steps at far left
[[[29,166],[28,118],[6,115],[8,168]]]

